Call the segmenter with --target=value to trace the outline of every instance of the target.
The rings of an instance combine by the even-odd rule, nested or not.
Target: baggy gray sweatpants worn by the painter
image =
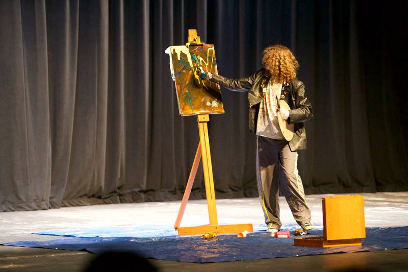
[[[297,152],[291,152],[287,140],[258,136],[257,183],[266,224],[272,223],[277,229],[282,226],[279,219],[279,187],[297,224],[310,222],[311,212],[297,170]]]

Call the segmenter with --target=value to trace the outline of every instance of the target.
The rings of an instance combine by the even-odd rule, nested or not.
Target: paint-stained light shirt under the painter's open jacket
[[[261,102],[257,121],[257,135],[271,139],[285,139],[277,120],[276,97],[281,96],[282,83],[271,83],[263,88],[263,100]]]

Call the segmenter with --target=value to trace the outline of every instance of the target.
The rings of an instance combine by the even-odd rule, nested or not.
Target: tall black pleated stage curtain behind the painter
[[[280,43],[315,117],[307,193],[408,189],[405,1],[0,1],[0,210],[180,200],[198,144],[169,45],[187,30],[244,77]],[[245,93],[222,89],[209,130],[216,196],[256,196]],[[191,198],[205,197],[201,171]]]

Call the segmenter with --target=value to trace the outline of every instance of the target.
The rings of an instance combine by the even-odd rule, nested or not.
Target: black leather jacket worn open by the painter
[[[259,107],[263,99],[262,89],[268,84],[271,75],[265,68],[260,69],[251,76],[242,79],[228,79],[213,74],[211,81],[221,84],[232,91],[249,91],[249,131],[257,132],[257,120]],[[293,79],[289,84],[282,86],[281,100],[288,103],[291,110],[288,118],[289,123],[295,124],[295,134],[289,142],[291,151],[306,149],[306,132],[304,130],[304,121],[313,117],[312,105],[308,97],[304,94],[304,84],[298,79]]]

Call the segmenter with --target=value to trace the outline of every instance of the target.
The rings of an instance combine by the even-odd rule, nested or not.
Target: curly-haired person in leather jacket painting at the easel
[[[287,47],[265,48],[262,63],[265,68],[247,78],[228,79],[210,72],[204,76],[232,91],[248,91],[249,130],[258,135],[257,183],[267,232],[277,232],[282,226],[279,188],[296,222],[309,231],[314,227],[297,170],[297,151],[306,149],[303,122],[312,118],[312,105],[304,93],[303,82],[296,78],[299,64]],[[288,103],[291,110],[278,109],[277,99]],[[289,142],[279,128],[277,114],[294,123],[294,136]]]

